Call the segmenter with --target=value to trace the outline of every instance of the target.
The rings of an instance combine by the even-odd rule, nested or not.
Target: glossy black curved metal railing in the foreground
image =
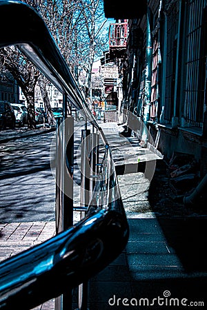
[[[25,3],[0,1],[0,25],[0,47],[17,45],[48,77],[63,94],[63,118],[66,121],[63,123],[67,124],[69,119],[69,125],[57,129],[57,156],[60,159],[57,178],[61,183],[61,188],[57,187],[57,236],[0,263],[0,308],[23,310],[61,294],[67,299],[72,288],[86,283],[110,264],[126,246],[128,223],[106,136],[90,113],[46,24]],[[83,110],[106,150],[99,172],[92,178],[94,188],[87,210],[86,205],[82,205],[86,214],[75,225],[71,218],[72,193],[68,195],[64,191],[65,187],[72,187],[72,118],[67,117],[68,102],[77,110]],[[95,139],[98,140],[96,135]],[[97,152],[92,156],[92,165],[95,166]],[[83,160],[86,161],[86,157]],[[64,165],[67,171],[63,169]],[[68,300],[71,301],[70,296]]]

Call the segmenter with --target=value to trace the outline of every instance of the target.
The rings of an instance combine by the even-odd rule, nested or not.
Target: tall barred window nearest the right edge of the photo
[[[186,14],[186,89],[184,117],[201,127],[206,80],[206,0],[188,0]]]

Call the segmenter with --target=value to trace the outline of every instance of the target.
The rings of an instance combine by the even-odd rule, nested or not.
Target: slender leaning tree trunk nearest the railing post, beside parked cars
[[[50,99],[48,97],[48,92],[46,90],[46,79],[41,77],[41,78],[39,78],[38,83],[39,83],[39,87],[40,87],[41,96],[43,99],[45,111],[46,111],[46,114],[48,116],[48,125],[49,126],[55,125],[56,124],[55,117],[53,115],[52,107],[50,105]]]

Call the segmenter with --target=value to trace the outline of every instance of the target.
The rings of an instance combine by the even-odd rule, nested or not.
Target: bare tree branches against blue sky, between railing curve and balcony
[[[24,0],[30,5],[32,0]],[[35,1],[54,37],[61,54],[77,81],[81,72],[86,73],[85,92],[88,96],[91,84],[92,63],[103,54],[108,36],[101,36],[106,21],[101,0],[52,0]]]

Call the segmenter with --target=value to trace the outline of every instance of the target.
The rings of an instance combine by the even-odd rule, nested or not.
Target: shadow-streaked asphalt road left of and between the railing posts
[[[79,207],[83,122],[75,122],[74,205]],[[55,130],[0,132],[0,223],[55,220]],[[13,138],[12,138],[13,137]],[[51,157],[51,158],[50,158]],[[74,213],[79,220],[79,212]]]

